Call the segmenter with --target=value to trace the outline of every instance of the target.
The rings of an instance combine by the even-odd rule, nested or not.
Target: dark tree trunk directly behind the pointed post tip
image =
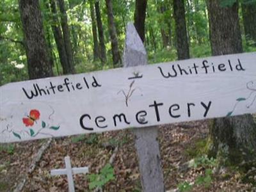
[[[136,0],[134,12],[134,26],[140,35],[142,42],[145,40],[145,19],[147,0]]]

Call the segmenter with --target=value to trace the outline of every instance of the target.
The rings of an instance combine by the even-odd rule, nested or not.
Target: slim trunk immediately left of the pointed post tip
[[[114,15],[113,15],[113,5],[111,0],[106,0],[106,8],[108,13],[108,28],[109,28],[109,35],[111,38],[113,65],[116,68],[116,67],[120,67],[122,61],[120,57],[120,52],[118,51],[118,40],[116,35],[116,27],[114,23]]]

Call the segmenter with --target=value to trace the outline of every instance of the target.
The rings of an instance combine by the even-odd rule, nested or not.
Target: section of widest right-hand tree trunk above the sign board
[[[223,8],[220,0],[207,1],[212,55],[243,52],[238,5]]]

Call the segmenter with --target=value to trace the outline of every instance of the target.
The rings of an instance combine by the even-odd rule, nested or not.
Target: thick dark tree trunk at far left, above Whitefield
[[[19,1],[29,79],[52,76],[38,0]]]

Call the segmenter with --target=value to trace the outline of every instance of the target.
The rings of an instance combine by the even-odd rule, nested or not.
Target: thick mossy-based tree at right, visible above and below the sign
[[[223,7],[220,0],[207,0],[207,9],[212,55],[243,52],[238,3]],[[210,156],[225,155],[231,163],[253,161],[256,157],[256,125],[252,115],[214,119],[209,134]]]

